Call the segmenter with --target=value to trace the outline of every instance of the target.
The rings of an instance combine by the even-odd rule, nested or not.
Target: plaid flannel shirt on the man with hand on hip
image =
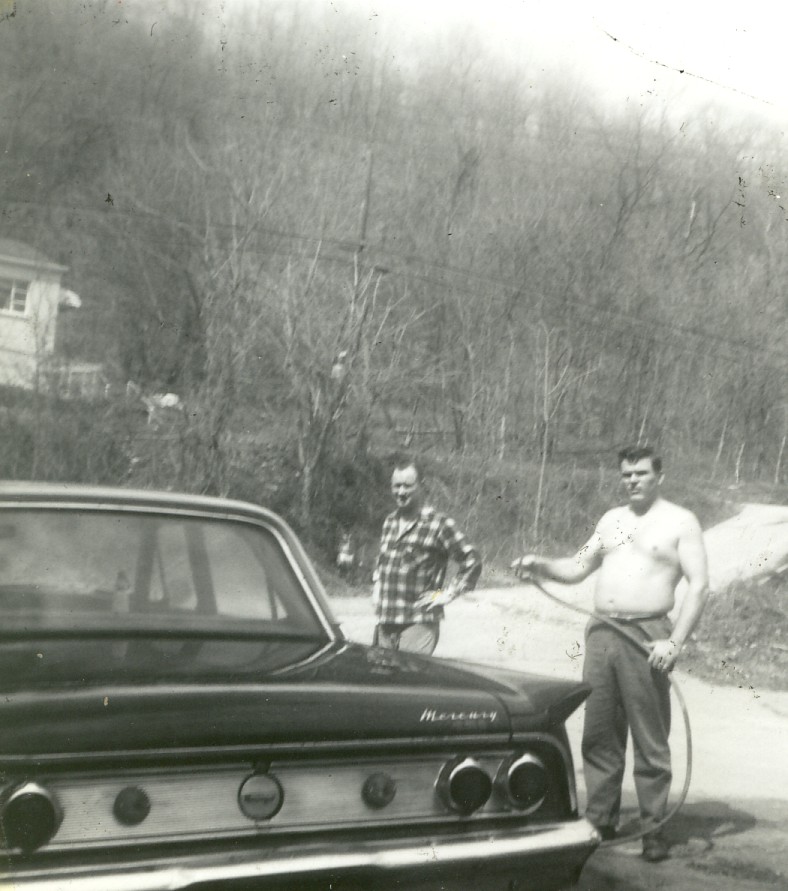
[[[482,562],[451,517],[424,506],[417,519],[399,534],[397,512],[383,523],[380,552],[375,564],[376,611],[380,624],[410,625],[443,617],[442,607],[416,609],[414,601],[443,587],[449,559],[459,564],[452,582],[456,594],[471,590]]]

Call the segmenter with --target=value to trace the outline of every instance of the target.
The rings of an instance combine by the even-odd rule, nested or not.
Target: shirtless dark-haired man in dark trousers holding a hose
[[[619,453],[628,503],[608,511],[594,534],[573,556],[545,559],[528,554],[512,564],[521,577],[541,576],[574,584],[599,569],[594,609],[642,637],[642,651],[604,622],[586,629],[583,679],[592,692],[583,727],[586,816],[603,839],[615,837],[627,731],[634,746],[634,777],[644,827],[643,856],[664,860],[668,849],[659,831],[670,790],[670,687],[673,668],[708,597],[706,551],[700,524],[690,511],[660,495],[662,460],[647,447]],[[686,594],[671,629],[667,614],[676,586]]]

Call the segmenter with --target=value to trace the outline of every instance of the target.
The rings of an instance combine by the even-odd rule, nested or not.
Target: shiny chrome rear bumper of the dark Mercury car
[[[178,891],[197,886],[232,888],[250,881],[315,880],[363,876],[385,883],[395,876],[428,879],[483,864],[485,873],[510,870],[520,877],[544,867],[566,877],[576,875],[599,843],[586,820],[476,832],[462,838],[436,835],[407,840],[302,843],[211,854],[179,855],[112,866],[24,869],[0,873],[0,887],[10,882],[25,891]],[[21,864],[20,864],[21,865]],[[538,885],[538,876],[535,876]],[[409,887],[411,887],[409,885]],[[478,887],[478,885],[477,885]],[[522,887],[530,887],[527,882]]]

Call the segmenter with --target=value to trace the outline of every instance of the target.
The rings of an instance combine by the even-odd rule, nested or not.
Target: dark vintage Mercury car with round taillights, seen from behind
[[[587,692],[348,642],[260,507],[0,483],[0,887],[568,887]]]

